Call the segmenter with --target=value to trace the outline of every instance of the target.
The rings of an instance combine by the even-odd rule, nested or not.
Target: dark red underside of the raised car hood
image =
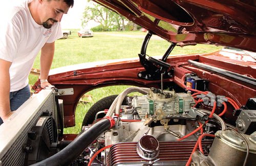
[[[93,0],[168,41],[256,52],[256,2],[246,0]]]

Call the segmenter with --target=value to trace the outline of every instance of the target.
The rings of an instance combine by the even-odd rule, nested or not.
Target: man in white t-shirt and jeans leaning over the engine
[[[62,37],[60,20],[74,0],[26,0],[1,23],[0,125],[29,97],[28,75],[41,50],[41,87],[47,81],[54,55],[54,42]],[[3,120],[3,121],[2,121]]]

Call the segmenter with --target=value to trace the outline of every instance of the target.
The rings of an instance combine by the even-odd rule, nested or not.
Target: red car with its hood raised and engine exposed
[[[63,100],[59,130],[75,126],[84,93],[119,84],[136,87],[95,103],[81,134],[58,132],[57,150],[34,165],[255,165],[255,3],[94,1],[148,33],[137,59],[51,71],[48,80]],[[152,34],[170,43],[162,57],[146,56]],[[225,47],[169,56],[175,46],[197,43]],[[127,97],[134,91],[142,94]]]

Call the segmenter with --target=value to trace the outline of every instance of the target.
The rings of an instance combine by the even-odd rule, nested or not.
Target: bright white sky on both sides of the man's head
[[[3,1],[3,0],[1,0]],[[2,2],[3,4],[0,6],[0,15],[4,16],[3,13],[8,11],[8,7],[12,4],[16,4],[19,2],[23,2],[24,0],[8,0]],[[81,28],[81,19],[84,8],[88,5],[87,0],[74,0],[73,8],[70,8],[68,14],[64,14],[61,19],[61,27],[62,29],[80,29]],[[87,29],[93,28],[97,26],[98,23],[91,21],[88,23]]]

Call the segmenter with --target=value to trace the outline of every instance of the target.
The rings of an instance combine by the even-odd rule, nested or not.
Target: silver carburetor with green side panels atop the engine
[[[182,115],[189,112],[195,104],[191,93],[176,93],[173,91],[150,88],[144,96],[134,96],[132,106],[137,110],[141,118],[155,114],[155,120],[161,120],[165,116]]]

